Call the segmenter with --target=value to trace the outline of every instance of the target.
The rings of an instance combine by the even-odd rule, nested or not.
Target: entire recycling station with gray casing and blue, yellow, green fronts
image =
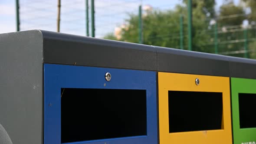
[[[256,60],[37,29],[0,57],[0,144],[255,144]]]

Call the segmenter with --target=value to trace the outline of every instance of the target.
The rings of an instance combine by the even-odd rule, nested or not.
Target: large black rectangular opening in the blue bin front
[[[147,135],[146,90],[61,88],[61,143]]]

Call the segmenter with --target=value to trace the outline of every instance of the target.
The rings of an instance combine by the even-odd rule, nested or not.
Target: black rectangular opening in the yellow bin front
[[[169,91],[169,132],[222,129],[221,92]]]

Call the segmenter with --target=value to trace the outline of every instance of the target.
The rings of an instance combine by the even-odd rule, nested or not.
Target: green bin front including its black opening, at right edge
[[[256,143],[256,79],[231,78],[234,144]]]

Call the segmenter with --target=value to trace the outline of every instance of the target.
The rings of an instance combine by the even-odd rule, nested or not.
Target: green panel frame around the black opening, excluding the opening
[[[240,128],[239,93],[256,94],[256,79],[231,78],[234,144],[255,144],[256,128]]]

